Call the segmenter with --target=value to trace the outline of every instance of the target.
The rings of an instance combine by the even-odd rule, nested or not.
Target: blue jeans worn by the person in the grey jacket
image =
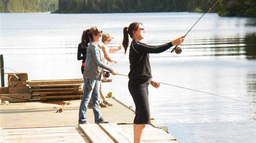
[[[87,118],[85,118],[86,111],[87,111],[87,104],[92,97],[92,111],[94,114],[94,120],[95,123],[102,122],[104,118],[102,117],[100,113],[100,81],[92,80],[92,79],[86,79],[84,80],[84,91],[83,91],[83,97],[81,100],[80,108],[79,108],[79,120],[78,123],[83,124],[87,123]],[[88,90],[87,86],[91,84],[92,90]]]

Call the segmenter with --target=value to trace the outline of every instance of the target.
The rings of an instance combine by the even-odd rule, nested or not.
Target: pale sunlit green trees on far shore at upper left
[[[0,12],[54,12],[59,0],[0,0]]]

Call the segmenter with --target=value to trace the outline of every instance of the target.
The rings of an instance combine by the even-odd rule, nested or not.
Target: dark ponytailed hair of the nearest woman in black
[[[126,54],[128,44],[129,44],[129,37],[128,34],[130,35],[131,38],[133,38],[133,30],[137,30],[140,25],[143,25],[143,23],[140,22],[133,22],[130,23],[129,27],[124,27],[123,28],[123,47],[124,47],[124,54]]]

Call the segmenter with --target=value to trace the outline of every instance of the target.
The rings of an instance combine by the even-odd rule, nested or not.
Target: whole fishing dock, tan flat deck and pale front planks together
[[[0,143],[133,143],[134,110],[115,98],[108,100],[113,106],[100,110],[110,123],[99,125],[94,124],[92,109],[86,114],[90,124],[78,125],[81,100],[70,101],[62,113],[57,113],[58,109],[69,100],[0,105]],[[146,125],[142,142],[179,141],[161,127]]]

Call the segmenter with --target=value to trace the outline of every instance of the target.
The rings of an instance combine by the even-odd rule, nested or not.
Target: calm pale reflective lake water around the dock
[[[40,80],[82,78],[76,53],[86,28],[99,26],[111,33],[115,39],[110,46],[116,47],[121,45],[123,27],[140,21],[146,30],[142,42],[159,45],[187,33],[201,13],[0,16],[5,72],[26,72],[29,80]],[[153,77],[162,83],[159,89],[149,87],[157,124],[168,126],[183,143],[255,143],[256,18],[206,14],[180,47],[180,55],[170,50],[150,55]],[[121,58],[112,67],[128,75],[128,54],[123,53],[111,54]],[[112,83],[103,83],[105,92],[134,107],[128,77],[111,78]]]

